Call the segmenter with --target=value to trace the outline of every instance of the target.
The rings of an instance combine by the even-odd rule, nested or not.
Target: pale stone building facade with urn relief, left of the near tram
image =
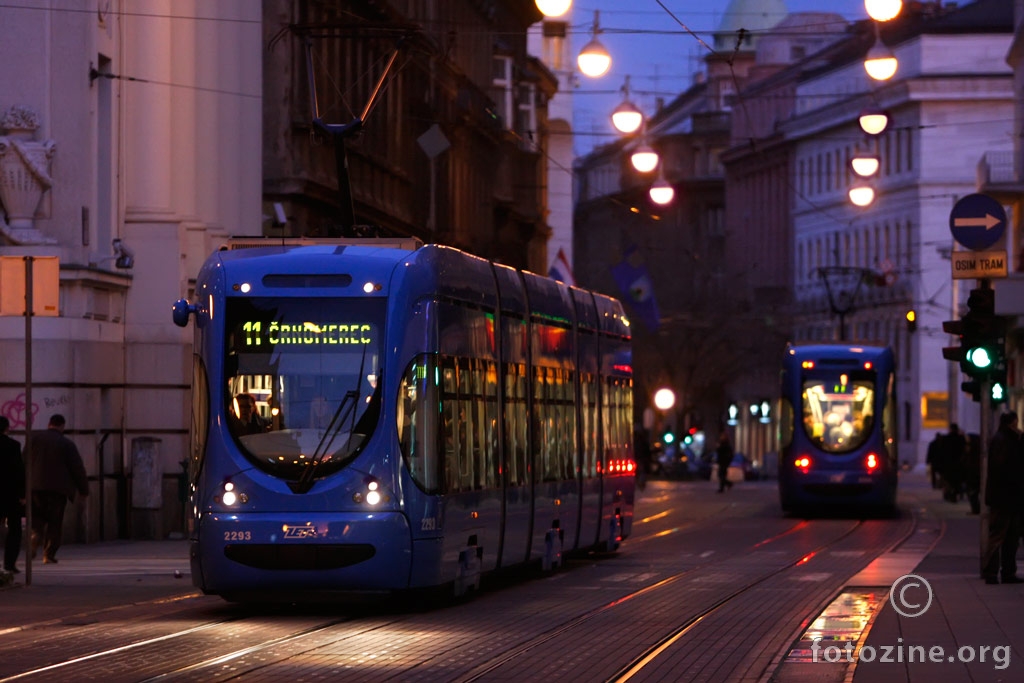
[[[0,8],[0,410],[22,438],[66,416],[90,477],[69,540],[180,529],[190,338],[169,304],[260,223],[259,7],[89,4]]]

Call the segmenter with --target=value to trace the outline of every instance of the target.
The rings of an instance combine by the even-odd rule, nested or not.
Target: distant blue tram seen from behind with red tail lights
[[[895,511],[892,349],[790,345],[781,373],[778,488],[784,511]]]

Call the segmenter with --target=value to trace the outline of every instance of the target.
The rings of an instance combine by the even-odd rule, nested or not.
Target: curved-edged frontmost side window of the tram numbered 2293
[[[432,447],[437,414],[428,409],[437,404],[435,377],[434,365],[424,355],[410,365],[398,388],[398,442],[413,480],[427,493],[435,493],[439,485]]]

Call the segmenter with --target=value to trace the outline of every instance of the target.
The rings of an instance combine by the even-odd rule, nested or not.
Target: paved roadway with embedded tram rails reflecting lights
[[[615,555],[451,606],[203,597],[47,622],[4,636],[0,681],[762,680],[914,517],[787,518],[770,483],[736,488],[650,482]]]

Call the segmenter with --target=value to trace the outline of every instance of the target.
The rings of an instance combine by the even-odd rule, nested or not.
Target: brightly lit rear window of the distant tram
[[[859,373],[858,375],[863,375]],[[840,374],[804,379],[804,429],[827,453],[862,445],[874,423],[874,379]]]

